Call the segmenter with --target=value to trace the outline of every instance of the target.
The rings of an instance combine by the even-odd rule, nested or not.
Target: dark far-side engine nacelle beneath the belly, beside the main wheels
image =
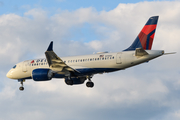
[[[72,77],[71,80],[73,83],[68,78],[65,78],[65,83],[67,85],[83,84],[84,81],[86,80],[86,77]]]

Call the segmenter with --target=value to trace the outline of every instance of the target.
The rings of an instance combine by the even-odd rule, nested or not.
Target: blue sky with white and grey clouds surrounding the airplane
[[[179,120],[180,1],[0,0],[0,120]],[[92,89],[63,79],[20,83],[6,77],[18,62],[128,48],[159,16],[152,49],[177,52],[126,70],[94,75]]]

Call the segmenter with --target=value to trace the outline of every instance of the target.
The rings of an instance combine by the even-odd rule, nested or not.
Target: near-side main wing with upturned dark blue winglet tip
[[[66,65],[66,63],[63,62],[63,60],[56,55],[56,53],[53,51],[53,41],[50,43],[47,51],[45,52],[47,62],[49,64],[50,69],[52,69],[55,72],[78,72],[77,70],[69,67]],[[79,72],[78,72],[79,73]]]

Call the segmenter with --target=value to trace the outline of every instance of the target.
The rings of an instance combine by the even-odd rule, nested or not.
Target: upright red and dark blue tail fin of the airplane
[[[136,48],[151,50],[158,18],[159,16],[150,17],[132,45],[124,51],[131,51]]]

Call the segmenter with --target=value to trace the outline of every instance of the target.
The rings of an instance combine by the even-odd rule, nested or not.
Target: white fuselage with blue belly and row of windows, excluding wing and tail
[[[81,75],[113,72],[137,64],[147,62],[163,55],[163,50],[146,50],[148,55],[135,56],[135,51],[117,53],[98,53],[93,55],[62,57],[61,59],[71,68],[79,71]],[[46,59],[26,60],[16,64],[7,77],[11,79],[31,79],[32,71],[37,68],[49,68]],[[91,73],[92,72],[92,73]],[[63,78],[58,77],[58,78]]]

